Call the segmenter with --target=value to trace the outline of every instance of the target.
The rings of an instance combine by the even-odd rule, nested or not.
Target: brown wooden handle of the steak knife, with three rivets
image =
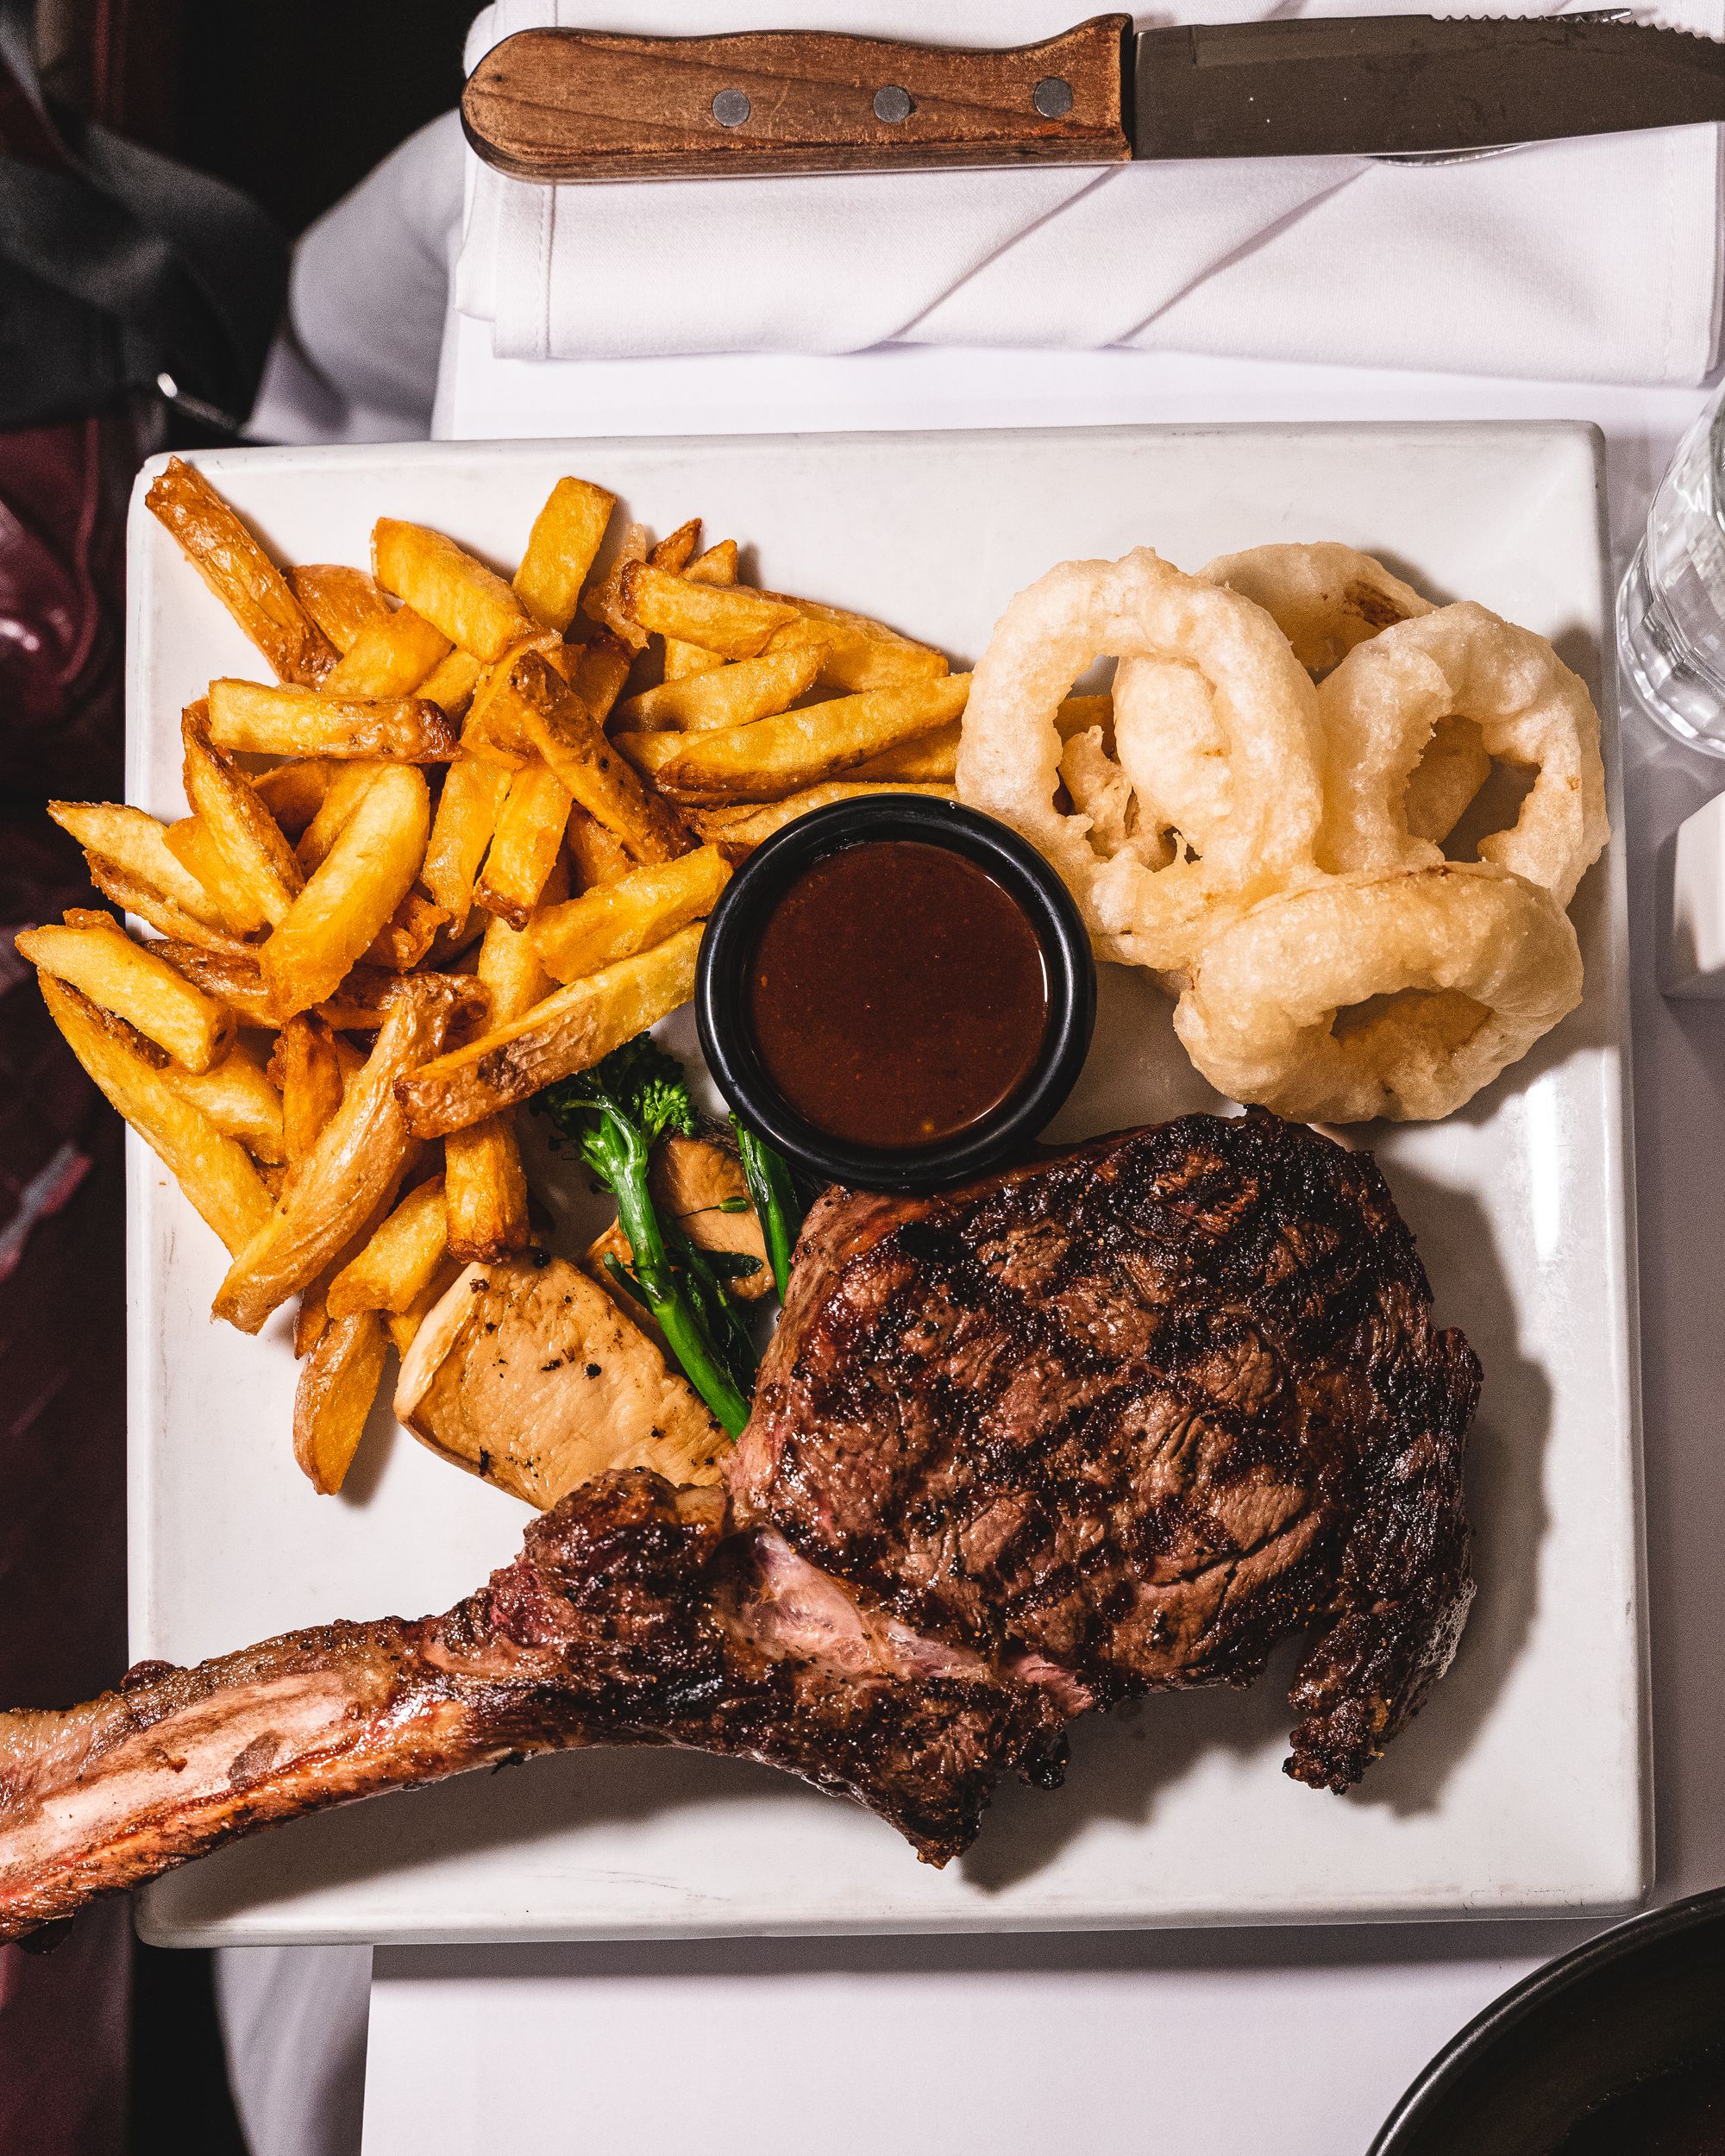
[[[1130,15],[1009,52],[819,30],[520,30],[468,78],[461,125],[518,179],[1119,164]]]

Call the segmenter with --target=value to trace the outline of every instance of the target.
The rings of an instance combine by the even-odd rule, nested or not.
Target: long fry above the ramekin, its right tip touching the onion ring
[[[970,675],[862,690],[714,733],[621,733],[617,746],[671,800],[774,800],[837,778],[886,748],[947,727]]]

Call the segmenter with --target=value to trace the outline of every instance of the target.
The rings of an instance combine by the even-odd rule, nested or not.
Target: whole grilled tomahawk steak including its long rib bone
[[[1382,1175],[1182,1117],[932,1199],[828,1192],[729,1494],[604,1475],[444,1617],[0,1716],[0,1938],[233,1835],[571,1744],[843,1789],[932,1863],[1065,1723],[1244,1684],[1350,1787],[1455,1651],[1479,1365]]]

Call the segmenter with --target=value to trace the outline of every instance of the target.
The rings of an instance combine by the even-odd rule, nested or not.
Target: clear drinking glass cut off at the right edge
[[[1725,395],[1684,436],[1617,593],[1617,653],[1637,703],[1725,757]]]

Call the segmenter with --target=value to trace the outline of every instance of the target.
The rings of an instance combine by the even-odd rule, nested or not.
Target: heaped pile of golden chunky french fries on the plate
[[[181,720],[188,815],[54,802],[112,912],[19,934],[73,1054],[222,1238],[213,1313],[298,1298],[295,1457],[339,1490],[390,1345],[530,1242],[515,1108],[694,985],[733,862],[828,800],[951,791],[966,675],[740,582],[731,539],[561,479],[513,578],[380,517],[282,571],[192,466],[149,509],[267,660]]]

